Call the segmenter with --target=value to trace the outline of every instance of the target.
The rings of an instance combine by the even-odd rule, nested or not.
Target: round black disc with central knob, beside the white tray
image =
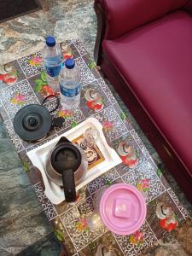
[[[38,141],[50,130],[52,119],[47,108],[38,104],[20,108],[14,119],[17,135],[25,141]]]

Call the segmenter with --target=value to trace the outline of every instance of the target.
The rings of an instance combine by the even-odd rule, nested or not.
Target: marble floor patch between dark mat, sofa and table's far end
[[[96,38],[93,0],[55,0],[47,12],[42,9],[0,24],[0,63],[42,49],[48,34],[57,41],[79,38],[92,54]]]

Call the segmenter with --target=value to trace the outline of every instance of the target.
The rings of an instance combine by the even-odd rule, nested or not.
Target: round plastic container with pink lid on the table
[[[125,183],[114,184],[98,191],[94,197],[94,207],[88,224],[94,226],[95,222],[98,227],[100,219],[108,230],[126,236],[139,230],[147,212],[145,199],[140,191]]]

